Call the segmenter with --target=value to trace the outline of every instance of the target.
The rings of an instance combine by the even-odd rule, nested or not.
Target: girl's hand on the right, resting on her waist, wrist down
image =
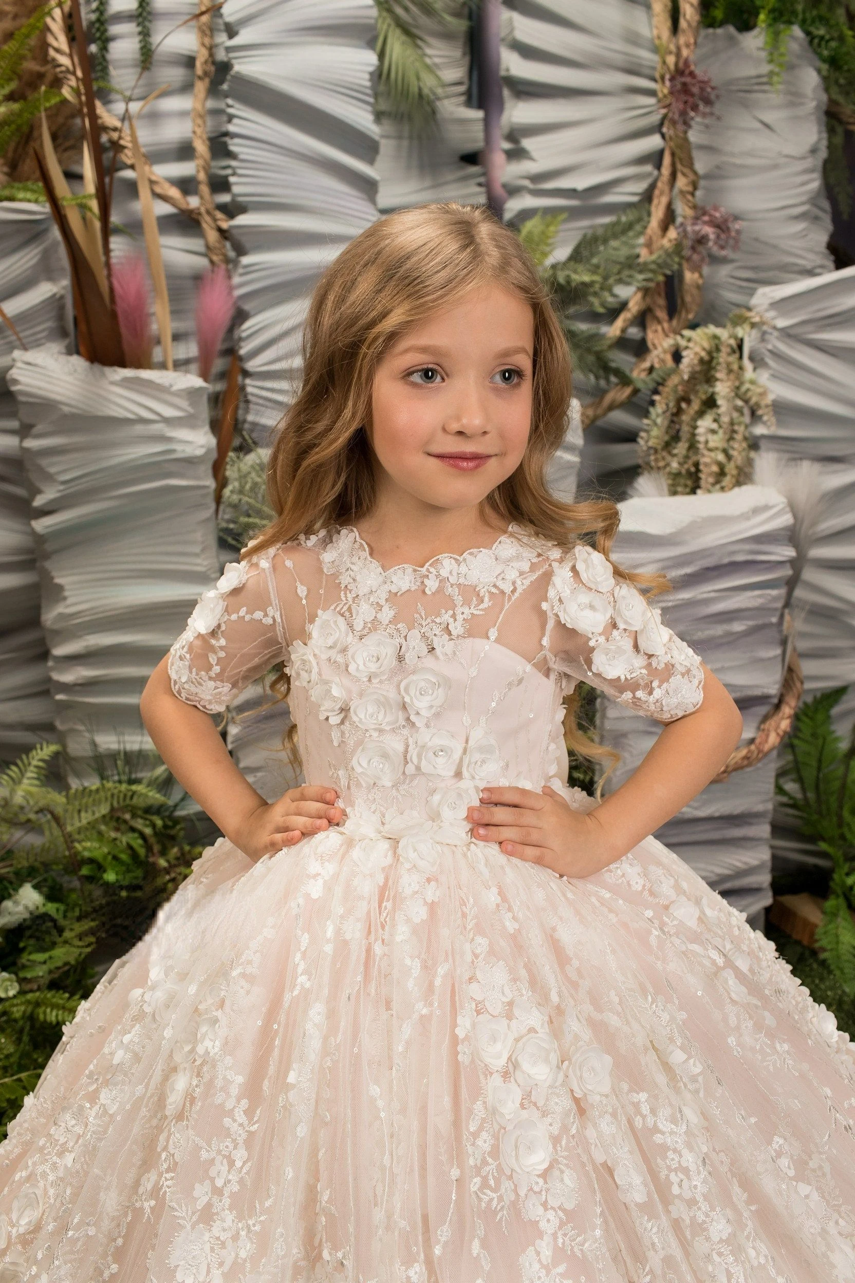
[[[481,802],[467,812],[472,835],[477,842],[497,842],[506,856],[544,865],[564,878],[587,878],[615,858],[596,813],[574,811],[549,784],[541,793],[482,789]]]

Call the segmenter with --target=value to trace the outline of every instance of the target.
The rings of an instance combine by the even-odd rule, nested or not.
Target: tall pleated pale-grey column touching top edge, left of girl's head
[[[299,376],[309,296],[377,218],[372,0],[227,0],[226,86],[246,427],[264,441]]]

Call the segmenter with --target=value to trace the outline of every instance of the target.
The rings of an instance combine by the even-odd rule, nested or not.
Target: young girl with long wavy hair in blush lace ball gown
[[[855,1279],[849,1039],[649,837],[741,720],[615,508],[549,494],[569,395],[483,208],[322,277],[278,516],[142,699],[224,838],[0,1147],[0,1283]],[[273,665],[308,783],[268,804],[209,715]],[[579,679],[664,724],[601,804]]]

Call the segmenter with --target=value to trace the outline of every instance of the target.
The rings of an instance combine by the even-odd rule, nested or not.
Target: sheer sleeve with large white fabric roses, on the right
[[[642,594],[615,577],[595,548],[578,544],[554,570],[544,608],[551,667],[660,722],[700,707],[700,657]]]

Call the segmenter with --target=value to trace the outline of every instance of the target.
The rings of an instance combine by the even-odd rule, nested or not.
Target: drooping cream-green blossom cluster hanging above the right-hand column
[[[751,480],[749,426],[759,414],[774,429],[769,390],[743,358],[755,326],[770,322],[737,308],[724,326],[683,330],[655,354],[679,353],[679,364],[659,387],[638,436],[642,468],[660,472],[669,494],[732,490]]]

